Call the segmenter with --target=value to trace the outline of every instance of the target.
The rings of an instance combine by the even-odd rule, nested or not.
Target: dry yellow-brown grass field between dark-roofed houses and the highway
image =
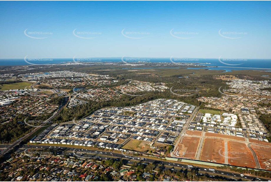
[[[150,144],[150,142],[131,139],[122,148],[143,152],[145,150],[150,150],[149,144]]]

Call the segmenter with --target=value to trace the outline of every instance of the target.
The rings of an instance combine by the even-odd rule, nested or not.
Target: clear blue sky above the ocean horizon
[[[0,1],[0,17],[0,58],[271,58],[270,1]]]

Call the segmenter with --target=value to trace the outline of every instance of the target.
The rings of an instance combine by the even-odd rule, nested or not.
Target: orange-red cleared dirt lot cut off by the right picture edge
[[[257,155],[261,168],[271,170],[271,148],[259,145],[251,145],[251,147]]]

